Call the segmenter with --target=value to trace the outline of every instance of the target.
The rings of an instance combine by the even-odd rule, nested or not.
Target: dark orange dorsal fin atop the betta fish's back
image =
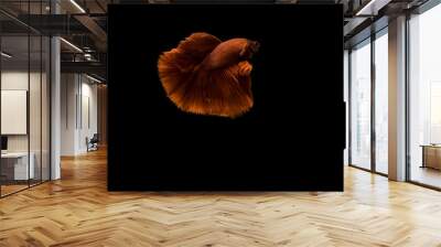
[[[195,60],[204,60],[222,41],[216,36],[200,32],[193,33],[181,41],[178,49],[193,56]]]

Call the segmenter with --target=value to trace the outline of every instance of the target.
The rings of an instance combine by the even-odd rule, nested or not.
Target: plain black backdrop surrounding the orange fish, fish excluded
[[[260,42],[249,112],[166,98],[158,57],[193,32]],[[343,190],[341,6],[110,6],[108,52],[110,191]]]

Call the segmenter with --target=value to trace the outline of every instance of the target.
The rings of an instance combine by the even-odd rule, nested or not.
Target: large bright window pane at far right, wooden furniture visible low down
[[[441,6],[410,20],[410,180],[441,187]]]

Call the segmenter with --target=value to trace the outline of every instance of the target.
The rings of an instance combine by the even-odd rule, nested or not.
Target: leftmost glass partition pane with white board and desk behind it
[[[1,52],[1,193],[6,195],[28,187],[34,175],[29,159],[28,35],[2,36]]]

